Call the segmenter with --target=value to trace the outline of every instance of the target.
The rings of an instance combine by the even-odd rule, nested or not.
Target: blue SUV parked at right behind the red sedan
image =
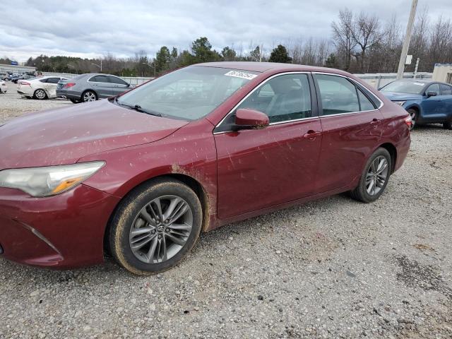
[[[396,80],[380,89],[410,114],[416,124],[443,124],[452,129],[452,85],[437,81]]]

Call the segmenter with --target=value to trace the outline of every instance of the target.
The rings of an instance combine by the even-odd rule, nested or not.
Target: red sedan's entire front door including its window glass
[[[310,77],[271,78],[237,107],[266,113],[266,129],[215,132],[220,219],[313,194],[321,124]]]

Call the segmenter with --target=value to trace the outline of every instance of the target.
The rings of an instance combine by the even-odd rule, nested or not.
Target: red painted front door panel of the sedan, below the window
[[[218,217],[228,218],[313,194],[321,136],[319,118],[260,130],[215,134]],[[234,201],[232,206],[228,201]]]

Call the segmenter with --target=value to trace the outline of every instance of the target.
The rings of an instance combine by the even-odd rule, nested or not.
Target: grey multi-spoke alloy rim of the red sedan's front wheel
[[[162,263],[186,244],[193,227],[193,213],[183,198],[160,196],[141,208],[131,226],[129,245],[144,263]]]

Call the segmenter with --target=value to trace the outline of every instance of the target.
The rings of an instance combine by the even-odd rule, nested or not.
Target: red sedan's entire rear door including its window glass
[[[383,115],[370,94],[347,77],[315,73],[314,79],[323,130],[316,193],[323,193],[348,186],[361,174],[379,142]]]

